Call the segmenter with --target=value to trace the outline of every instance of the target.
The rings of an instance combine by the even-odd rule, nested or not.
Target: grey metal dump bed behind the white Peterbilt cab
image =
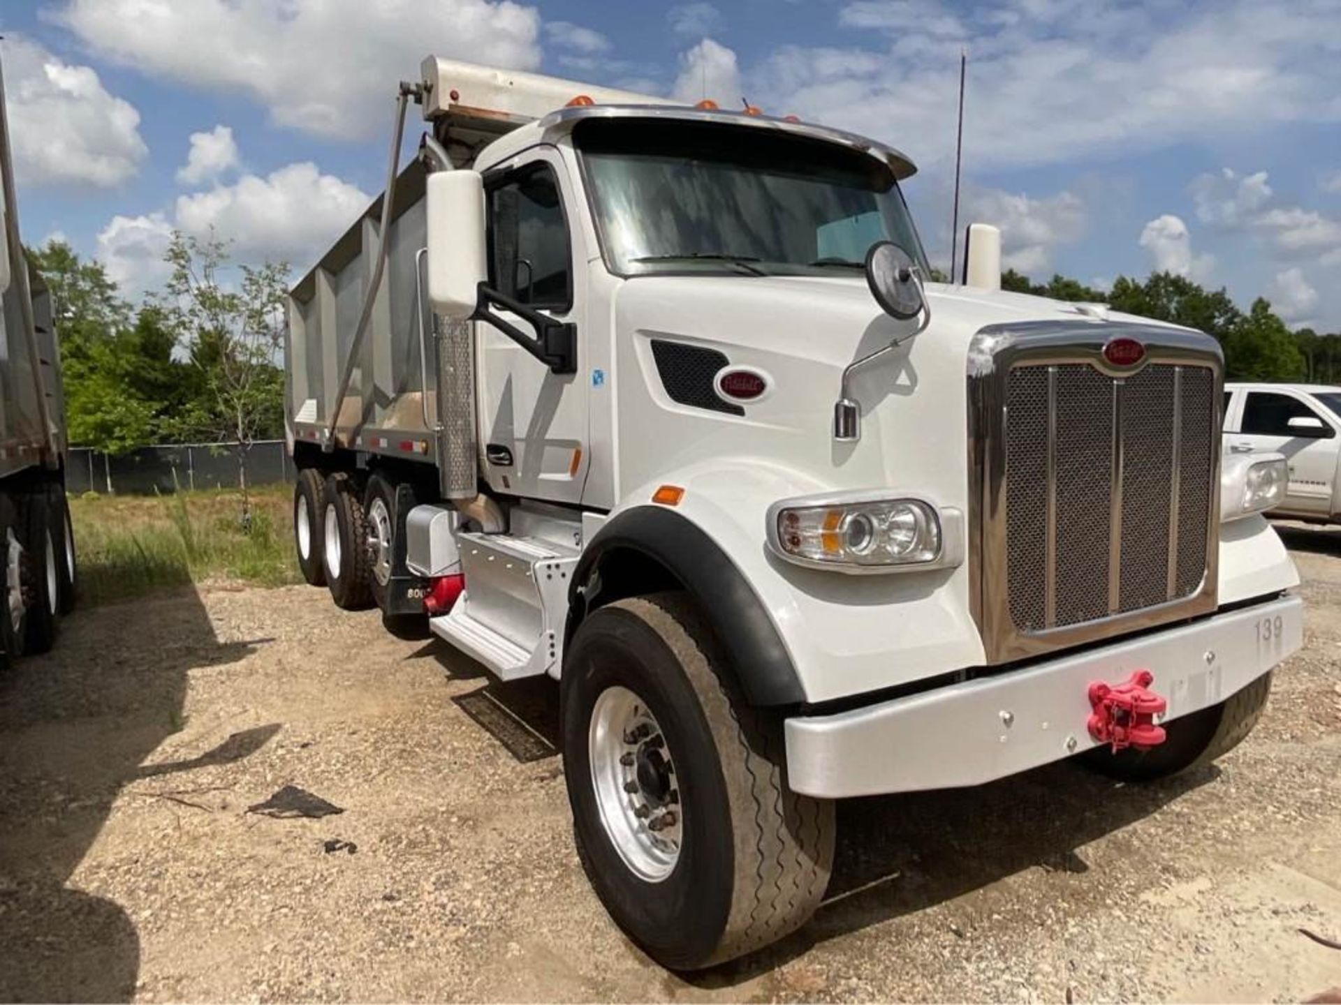
[[[581,98],[579,98],[581,95]],[[664,103],[629,91],[591,87],[538,74],[493,70],[429,56],[421,67],[420,95],[429,131],[456,166],[469,165],[489,142],[562,109],[583,103]],[[439,421],[439,383],[444,398],[469,393],[469,332],[445,343],[420,281],[425,247],[426,169],[418,161],[396,184],[388,226],[388,259],[375,291],[367,330],[357,347],[343,402],[337,409],[346,360],[354,346],[363,302],[377,271],[378,197],[291,289],[286,343],[286,418],[291,444],[319,444],[440,465],[463,462],[461,446],[473,433],[453,429],[468,409],[451,407]],[[453,385],[455,378],[455,385]],[[331,423],[331,418],[338,421]],[[439,430],[439,426],[445,426]],[[452,440],[452,449],[440,444]],[[439,449],[443,448],[443,449]],[[449,460],[455,458],[455,460]],[[473,457],[461,480],[475,485]]]

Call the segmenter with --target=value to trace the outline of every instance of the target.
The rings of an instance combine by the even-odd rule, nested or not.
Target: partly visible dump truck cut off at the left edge
[[[0,661],[46,653],[75,603],[64,397],[51,295],[19,237],[0,79]]]

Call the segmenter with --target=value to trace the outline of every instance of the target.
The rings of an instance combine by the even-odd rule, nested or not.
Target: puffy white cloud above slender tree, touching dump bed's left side
[[[188,234],[213,233],[229,241],[241,261],[283,260],[306,269],[370,201],[314,163],[291,163],[264,178],[245,174],[233,185],[180,196],[176,225]]]

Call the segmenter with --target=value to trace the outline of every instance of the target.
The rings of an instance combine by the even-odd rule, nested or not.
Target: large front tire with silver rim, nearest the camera
[[[834,804],[787,788],[780,720],[744,702],[685,594],[593,612],[561,704],[578,855],[648,955],[711,966],[810,918],[833,866]]]

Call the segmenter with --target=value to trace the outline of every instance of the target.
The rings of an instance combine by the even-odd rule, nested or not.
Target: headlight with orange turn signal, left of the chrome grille
[[[953,541],[947,541],[947,531]],[[789,561],[842,572],[957,565],[963,548],[957,509],[921,498],[872,493],[794,498],[768,511],[768,544]]]

